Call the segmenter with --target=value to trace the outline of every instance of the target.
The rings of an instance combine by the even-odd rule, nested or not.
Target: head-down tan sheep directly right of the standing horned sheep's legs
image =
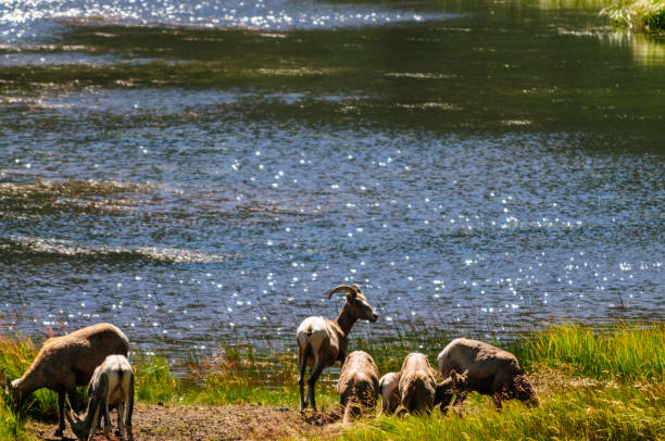
[[[344,423],[374,408],[378,399],[378,368],[363,351],[349,354],[337,381],[339,401],[344,406]]]

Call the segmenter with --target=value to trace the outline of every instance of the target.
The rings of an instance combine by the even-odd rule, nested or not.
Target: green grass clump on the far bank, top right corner
[[[601,11],[615,26],[647,33],[665,32],[665,0],[638,0],[618,3]]]

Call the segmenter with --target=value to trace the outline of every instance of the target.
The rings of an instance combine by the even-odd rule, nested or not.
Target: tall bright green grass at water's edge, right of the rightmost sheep
[[[529,336],[520,352],[530,362],[567,365],[578,375],[627,380],[665,378],[665,324],[617,324],[607,330],[582,325],[545,328]]]

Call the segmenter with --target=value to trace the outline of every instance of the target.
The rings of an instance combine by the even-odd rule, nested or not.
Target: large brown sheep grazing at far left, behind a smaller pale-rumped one
[[[127,355],[129,340],[113,325],[101,323],[66,336],[48,339],[23,377],[8,381],[8,393],[23,401],[37,389],[58,393],[57,437],[64,431],[65,394],[76,401],[76,387],[87,385],[106,355]]]

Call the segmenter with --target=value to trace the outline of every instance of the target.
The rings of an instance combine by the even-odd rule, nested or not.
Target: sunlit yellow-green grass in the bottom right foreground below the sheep
[[[548,396],[537,408],[509,402],[502,412],[488,406],[464,411],[461,418],[432,412],[426,417],[380,416],[357,423],[343,440],[576,439],[649,440],[665,432],[665,387],[651,393],[630,386],[586,388]]]

